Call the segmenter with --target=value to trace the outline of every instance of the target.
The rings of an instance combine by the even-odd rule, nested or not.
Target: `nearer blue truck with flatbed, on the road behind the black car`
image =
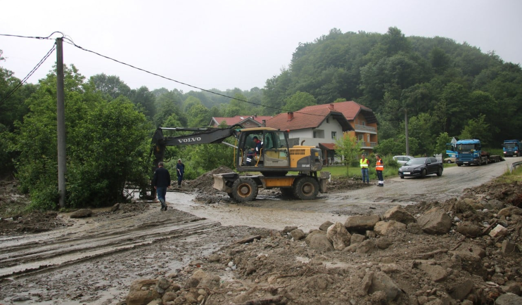
[[[488,152],[482,151],[482,144],[477,139],[458,140],[455,147],[457,149],[455,159],[457,166],[482,165],[501,161],[499,155],[490,155]]]

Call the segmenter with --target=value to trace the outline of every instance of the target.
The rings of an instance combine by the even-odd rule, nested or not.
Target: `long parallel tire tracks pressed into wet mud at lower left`
[[[128,227],[91,229],[89,233],[77,231],[60,237],[34,236],[0,239],[0,278],[11,275],[48,271],[64,265],[126,251],[151,243],[193,235],[205,234],[220,226],[219,222],[205,218],[186,223],[164,222],[161,226],[143,224]]]

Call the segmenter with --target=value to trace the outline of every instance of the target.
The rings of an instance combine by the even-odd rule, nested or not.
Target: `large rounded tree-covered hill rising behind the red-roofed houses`
[[[317,104],[354,100],[378,115],[379,144],[404,138],[407,110],[417,152],[431,153],[441,132],[495,146],[522,138],[521,85],[519,65],[467,43],[333,29],[296,48],[288,69],[267,80],[263,104],[285,108],[298,92]]]

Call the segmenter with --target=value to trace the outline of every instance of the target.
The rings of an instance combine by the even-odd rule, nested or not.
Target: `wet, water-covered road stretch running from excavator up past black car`
[[[475,187],[501,176],[522,157],[507,158],[500,163],[483,166],[453,166],[444,169],[441,177],[386,178],[384,187],[370,185],[356,190],[336,190],[319,194],[310,201],[283,200],[274,191],[260,191],[254,201],[228,204],[227,194],[218,195],[218,204],[202,205],[186,200],[186,195],[169,192],[167,200],[175,209],[220,222],[222,225],[245,225],[279,229],[297,226],[305,231],[317,228],[324,221],[344,222],[347,215],[383,214],[396,205],[420,201],[444,201],[458,197],[466,188]],[[277,193],[277,192],[275,192]],[[224,203],[224,204],[223,204]]]

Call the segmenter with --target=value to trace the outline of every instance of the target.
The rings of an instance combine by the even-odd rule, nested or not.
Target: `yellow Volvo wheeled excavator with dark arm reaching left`
[[[192,133],[164,137],[163,130]],[[235,144],[223,142],[229,137],[235,138]],[[256,145],[254,138],[262,143]],[[154,155],[154,168],[157,168],[158,162],[163,161],[165,148],[168,146],[217,143],[234,147],[236,171],[245,174],[232,172],[213,175],[213,187],[228,193],[238,202],[253,200],[259,188],[280,188],[284,196],[303,200],[315,199],[318,192],[327,191],[330,173],[319,172],[323,168],[321,149],[305,145],[289,147],[288,131],[269,127],[242,128],[238,125],[228,128],[158,127],[152,137],[151,153]],[[260,174],[249,175],[246,174],[247,172]],[[289,175],[288,172],[298,174]]]

